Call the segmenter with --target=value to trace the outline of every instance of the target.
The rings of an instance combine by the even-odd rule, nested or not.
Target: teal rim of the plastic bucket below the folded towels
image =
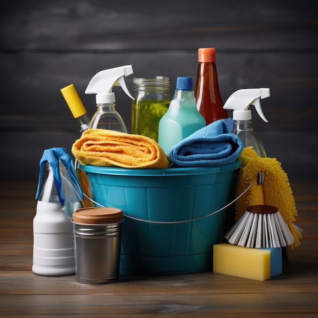
[[[79,163],[78,167],[90,173],[108,174],[108,175],[121,175],[121,176],[181,176],[181,175],[197,175],[197,174],[210,174],[234,171],[242,166],[242,161],[237,160],[234,163],[218,166],[208,167],[186,167],[186,168],[167,168],[167,169],[154,169],[154,168],[120,168],[120,167],[102,167],[93,165],[82,165]]]

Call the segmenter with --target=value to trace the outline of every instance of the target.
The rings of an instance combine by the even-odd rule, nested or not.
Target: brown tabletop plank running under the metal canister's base
[[[15,279],[17,278],[17,279]],[[40,276],[23,269],[1,269],[0,295],[61,295],[61,294],[298,294],[317,293],[316,271],[313,267],[288,269],[286,273],[267,281],[257,281],[213,272],[149,276],[120,274],[118,281],[111,284],[82,284],[75,275]],[[297,286],[298,291],[295,290]],[[232,290],[232,287],[233,288]]]

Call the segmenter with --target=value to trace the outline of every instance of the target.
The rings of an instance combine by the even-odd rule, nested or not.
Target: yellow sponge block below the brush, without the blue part
[[[228,243],[213,245],[213,272],[255,280],[271,278],[271,252]]]

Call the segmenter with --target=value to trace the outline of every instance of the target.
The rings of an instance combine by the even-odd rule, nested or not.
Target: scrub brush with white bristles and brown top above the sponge
[[[249,206],[225,235],[229,243],[239,246],[272,248],[294,243],[294,236],[271,205]]]

